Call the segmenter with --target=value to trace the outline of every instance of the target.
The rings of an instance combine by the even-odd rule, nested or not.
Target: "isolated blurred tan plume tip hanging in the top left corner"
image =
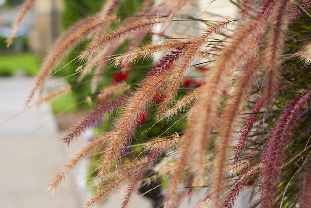
[[[9,47],[13,43],[13,39],[16,36],[17,30],[20,26],[20,23],[25,18],[25,16],[28,14],[29,10],[33,7],[34,3],[35,3],[35,0],[25,0],[23,5],[21,6],[21,10],[19,12],[19,15],[12,25],[13,31],[12,31],[11,35],[9,36],[9,38],[7,38],[7,40],[6,40],[7,47]]]

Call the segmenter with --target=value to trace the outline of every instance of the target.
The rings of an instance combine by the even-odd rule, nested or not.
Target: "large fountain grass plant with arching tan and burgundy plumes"
[[[34,2],[25,1],[14,28]],[[49,190],[91,156],[95,191],[86,207],[125,185],[125,208],[133,192],[157,178],[167,208],[206,187],[198,208],[231,208],[246,189],[259,196],[249,207],[311,206],[311,1],[232,3],[239,10],[236,19],[208,21],[190,15],[200,13],[190,0],[145,0],[130,17],[115,15],[122,0],[106,0],[101,11],[58,39],[26,106],[35,93],[42,99],[46,78],[87,40],[72,61],[81,63],[75,74],[90,84],[87,100],[94,110],[61,142],[70,145],[88,127],[102,131],[71,158]],[[208,12],[208,2],[203,5]],[[176,27],[170,25],[186,21],[201,25],[200,33],[182,37],[179,27],[172,32]],[[160,41],[142,41],[151,35]],[[125,52],[116,54],[124,42]],[[155,54],[152,66],[135,65]],[[105,77],[111,81],[103,83]],[[147,131],[153,136],[141,136]]]

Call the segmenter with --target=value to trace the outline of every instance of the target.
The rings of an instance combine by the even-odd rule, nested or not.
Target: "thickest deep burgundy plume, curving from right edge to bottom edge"
[[[302,109],[307,108],[306,103],[311,97],[311,90],[304,90],[303,93],[304,95],[291,101],[289,107],[284,109],[262,152],[262,169],[259,177],[262,207],[274,206],[284,151],[290,144],[294,124],[299,119]]]

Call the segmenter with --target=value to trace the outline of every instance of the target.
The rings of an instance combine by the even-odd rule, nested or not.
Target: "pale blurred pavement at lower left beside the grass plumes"
[[[33,78],[24,76],[0,79],[0,207],[81,207],[82,197],[73,194],[78,185],[53,199],[52,194],[44,194],[46,184],[68,157],[58,142],[49,105],[23,110],[33,84]]]

